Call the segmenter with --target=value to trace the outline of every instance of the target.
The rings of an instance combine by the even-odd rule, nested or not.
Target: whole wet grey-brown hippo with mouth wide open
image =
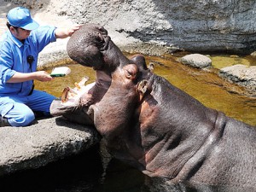
[[[171,183],[256,189],[256,131],[155,75],[143,55],[125,57],[102,26],[84,25],[67,44],[70,57],[94,67],[96,84],[51,111],[95,125],[114,157]]]

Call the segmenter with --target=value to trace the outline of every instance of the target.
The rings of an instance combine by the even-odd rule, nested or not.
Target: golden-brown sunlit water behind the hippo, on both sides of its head
[[[154,73],[166,78],[190,96],[194,96],[208,108],[215,108],[232,118],[249,125],[256,125],[256,97],[247,96],[243,88],[219,78],[216,74],[217,69],[207,72],[180,64],[177,62],[180,56],[182,55],[146,56],[146,61],[154,63]],[[210,55],[210,57],[213,58],[212,65],[217,68],[223,63],[226,63],[226,66],[231,65],[236,56]],[[247,57],[240,58],[241,61],[249,63]],[[252,64],[254,60],[251,57],[250,59]],[[54,96],[61,96],[66,86],[74,87],[74,83],[79,82],[84,75],[90,78],[89,83],[95,80],[95,72],[90,67],[74,64],[72,61],[65,65],[71,68],[72,73],[64,78],[55,78],[51,82],[36,81],[36,89],[46,90]],[[51,68],[48,69],[49,73],[50,71]]]

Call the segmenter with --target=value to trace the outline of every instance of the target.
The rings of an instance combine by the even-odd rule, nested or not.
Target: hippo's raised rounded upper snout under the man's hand
[[[113,72],[121,64],[129,63],[103,26],[84,24],[67,42],[67,54],[79,64],[95,70]]]

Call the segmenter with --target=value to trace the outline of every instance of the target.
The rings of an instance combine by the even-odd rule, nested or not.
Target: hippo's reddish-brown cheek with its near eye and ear
[[[140,67],[136,64],[118,67],[102,100],[90,106],[90,118],[107,143],[113,142],[112,139],[127,129],[138,103],[149,90],[148,81],[140,76]]]

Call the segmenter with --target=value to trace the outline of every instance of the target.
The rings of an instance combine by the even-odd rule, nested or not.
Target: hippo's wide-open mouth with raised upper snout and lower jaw
[[[90,105],[102,100],[111,84],[112,73],[117,67],[137,63],[138,67],[147,70],[143,55],[134,55],[128,59],[113,44],[108,36],[108,31],[103,26],[96,24],[85,24],[73,33],[67,43],[67,54],[73,61],[86,67],[93,67],[96,71],[94,84],[85,86],[84,83],[80,83],[82,84],[80,86],[83,87],[81,90],[76,87],[75,90],[70,87],[65,88],[61,101],[55,100],[50,107],[50,113],[53,116],[63,115],[75,122],[78,122],[77,119],[84,119]],[[70,113],[76,113],[76,118],[74,119],[74,115],[70,115]],[[79,123],[88,125],[84,120],[79,120]],[[91,124],[90,120],[89,125]]]

